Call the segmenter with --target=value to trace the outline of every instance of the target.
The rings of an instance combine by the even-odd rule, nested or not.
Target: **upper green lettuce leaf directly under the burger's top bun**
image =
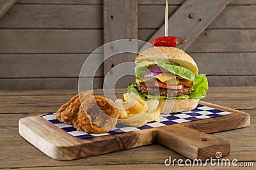
[[[194,80],[194,78],[195,78],[195,74],[193,74],[189,69],[182,67],[182,66],[172,65],[166,61],[143,61],[143,62],[140,62],[135,67],[136,77],[140,78],[141,73],[143,71],[147,71],[148,67],[153,66],[153,65],[162,67],[166,71],[170,71],[171,73],[176,74],[182,78],[186,78],[188,80]]]

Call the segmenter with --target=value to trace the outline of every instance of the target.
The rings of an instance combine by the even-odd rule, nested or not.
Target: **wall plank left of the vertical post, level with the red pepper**
[[[0,53],[91,53],[103,43],[103,32],[90,29],[1,29],[0,37]]]

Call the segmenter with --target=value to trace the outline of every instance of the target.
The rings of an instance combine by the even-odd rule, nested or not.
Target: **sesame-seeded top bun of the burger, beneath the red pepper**
[[[147,60],[168,60],[172,64],[179,64],[180,66],[188,68],[192,73],[198,73],[198,67],[195,61],[188,55],[188,53],[179,48],[169,46],[154,46],[143,50],[135,59],[135,63]]]

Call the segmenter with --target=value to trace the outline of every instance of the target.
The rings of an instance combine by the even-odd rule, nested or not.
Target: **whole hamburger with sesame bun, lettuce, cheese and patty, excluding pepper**
[[[127,89],[146,101],[158,98],[162,113],[193,110],[206,95],[205,74],[198,74],[195,61],[179,48],[147,48],[135,63],[136,83]]]

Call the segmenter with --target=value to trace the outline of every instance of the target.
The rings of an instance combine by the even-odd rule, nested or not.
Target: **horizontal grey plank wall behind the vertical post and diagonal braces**
[[[169,15],[183,2],[170,1]],[[138,39],[164,23],[164,3],[138,0]],[[256,85],[255,5],[232,0],[187,48],[211,86]],[[84,60],[103,45],[102,9],[101,0],[18,0],[0,18],[0,89],[76,89]],[[100,88],[103,66],[96,76]]]

